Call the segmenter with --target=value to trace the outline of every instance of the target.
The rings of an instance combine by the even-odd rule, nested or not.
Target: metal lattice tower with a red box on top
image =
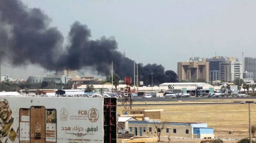
[[[131,77],[125,77],[125,84],[124,94],[122,98],[118,98],[122,103],[124,110],[132,109],[132,104],[134,102],[133,94],[137,93],[136,89],[131,89]]]

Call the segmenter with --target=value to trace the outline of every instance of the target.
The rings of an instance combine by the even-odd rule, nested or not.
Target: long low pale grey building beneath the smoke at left
[[[29,76],[28,82],[30,84],[42,83],[43,81],[63,83],[67,84],[67,81],[70,80],[68,76]]]

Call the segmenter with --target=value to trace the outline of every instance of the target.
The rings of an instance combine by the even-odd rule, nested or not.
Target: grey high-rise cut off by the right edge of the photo
[[[256,79],[256,58],[244,57],[244,70],[253,73],[253,80]]]

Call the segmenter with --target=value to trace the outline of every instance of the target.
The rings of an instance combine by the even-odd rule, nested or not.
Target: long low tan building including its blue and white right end
[[[214,138],[213,128],[207,123],[175,123],[160,121],[128,121],[130,133],[135,136],[157,136],[160,128],[164,126],[161,136],[184,138]]]

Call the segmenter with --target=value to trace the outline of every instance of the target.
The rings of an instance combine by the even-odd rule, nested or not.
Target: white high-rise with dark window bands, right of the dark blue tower
[[[243,79],[243,63],[239,61],[220,62],[221,81]]]

